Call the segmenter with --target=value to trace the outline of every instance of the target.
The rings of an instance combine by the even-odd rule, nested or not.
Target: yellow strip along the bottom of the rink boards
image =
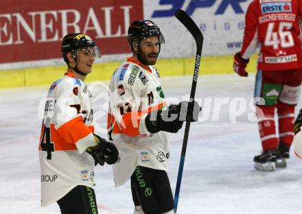
[[[248,64],[247,71],[256,71],[256,58],[253,56]],[[161,76],[192,75],[195,58],[159,59],[156,68]],[[121,62],[102,62],[94,64],[93,72],[86,81],[109,80]],[[32,69],[17,69],[0,71],[0,88],[16,88],[28,86],[49,85],[62,77],[66,66],[38,67]],[[233,56],[202,57],[200,75],[233,73]]]

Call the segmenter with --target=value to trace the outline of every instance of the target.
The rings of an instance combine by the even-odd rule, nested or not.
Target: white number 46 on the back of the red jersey
[[[264,41],[265,46],[272,46],[273,49],[279,49],[281,47],[294,46],[294,38],[289,31],[292,28],[292,23],[281,22],[279,23],[279,29],[274,32],[275,23],[268,24],[268,31],[266,32],[266,39]]]

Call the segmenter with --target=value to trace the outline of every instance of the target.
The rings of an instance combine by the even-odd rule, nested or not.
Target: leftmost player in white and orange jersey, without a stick
[[[92,95],[83,82],[99,53],[86,34],[68,34],[62,55],[68,70],[51,84],[38,147],[41,205],[57,202],[63,214],[95,214],[95,164],[117,161],[118,151],[93,130]]]

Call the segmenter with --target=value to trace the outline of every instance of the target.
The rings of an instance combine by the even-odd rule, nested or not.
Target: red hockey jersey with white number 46
[[[259,70],[302,68],[301,14],[300,0],[254,0],[246,12],[242,57],[260,45]]]

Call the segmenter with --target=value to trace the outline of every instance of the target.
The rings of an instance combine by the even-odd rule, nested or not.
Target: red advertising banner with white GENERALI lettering
[[[130,22],[143,19],[143,0],[0,1],[0,63],[60,58],[67,33],[84,32],[102,54],[124,53]]]

